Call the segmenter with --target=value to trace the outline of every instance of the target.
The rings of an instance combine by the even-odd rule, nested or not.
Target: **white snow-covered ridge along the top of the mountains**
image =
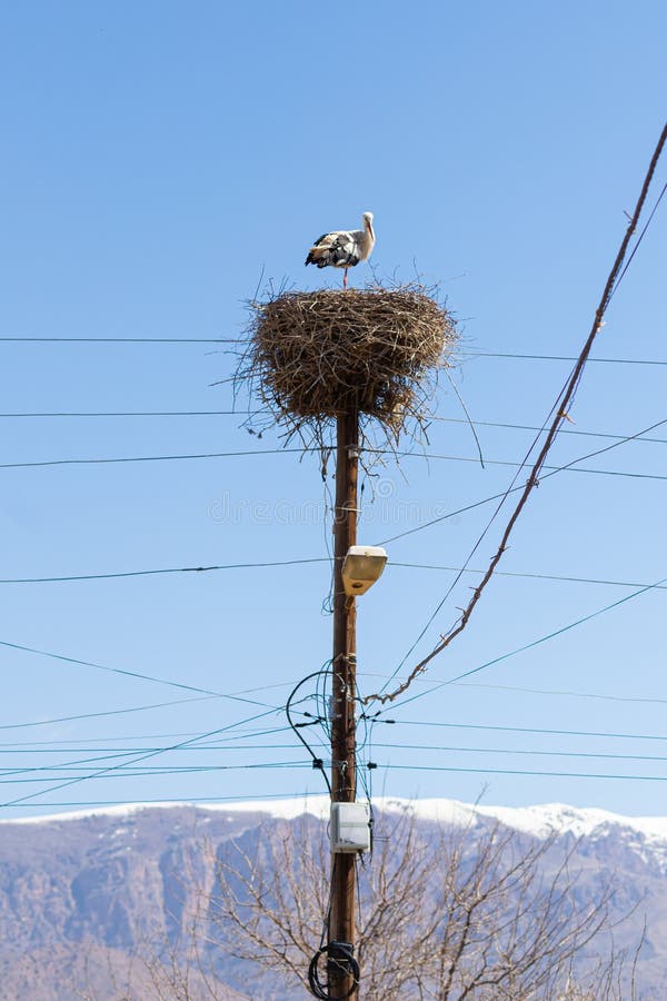
[[[475,823],[478,816],[494,817],[508,827],[532,834],[536,838],[547,838],[554,831],[570,832],[576,838],[588,838],[594,833],[603,833],[609,826],[615,826],[629,829],[651,841],[667,842],[667,816],[623,816],[607,810],[568,806],[563,803],[546,803],[535,806],[486,806],[461,803],[457,800],[404,800],[378,796],[374,800],[374,805],[379,810],[409,812],[422,820],[440,821],[458,826]],[[100,806],[47,816],[1,820],[0,824],[52,824],[91,816],[129,817],[145,810],[192,809],[193,806],[216,812],[265,813],[286,820],[303,813],[310,813],[321,819],[329,814],[328,796],[307,795],[226,803],[127,803],[122,806]]]

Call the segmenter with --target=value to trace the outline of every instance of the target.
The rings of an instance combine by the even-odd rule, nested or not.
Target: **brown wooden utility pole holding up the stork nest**
[[[357,544],[357,475],[359,466],[359,412],[348,406],[337,418],[336,508],[334,514],[334,661],[331,721],[331,800],[352,803],[356,795],[355,705],[357,694],[357,608],[342,586],[342,562]],[[329,942],[355,944],[355,890],[357,855],[331,855],[331,916]],[[354,981],[329,954],[329,994],[347,997]]]

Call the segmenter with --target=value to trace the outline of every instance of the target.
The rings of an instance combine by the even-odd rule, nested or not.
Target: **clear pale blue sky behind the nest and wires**
[[[305,250],[370,209],[378,275],[409,280],[417,268],[440,283],[464,348],[576,354],[663,127],[666,31],[657,2],[4,2],[0,337],[240,337],[243,303],[262,272],[303,289],[338,285],[336,272],[303,269]],[[654,199],[665,175],[663,163]],[[667,361],[665,221],[660,206],[597,357]],[[350,277],[358,286],[368,268]],[[0,343],[0,410],[229,410],[230,385],[211,386],[235,368],[223,348]],[[466,356],[455,379],[475,420],[539,426],[568,368]],[[666,375],[665,366],[591,364],[568,430],[630,435],[667,418]],[[434,407],[446,419],[430,429],[429,454],[474,458],[446,380]],[[6,464],[280,445],[277,434],[250,436],[235,416],[2,416],[0,427]],[[486,458],[506,463],[531,439],[487,424],[478,434]],[[648,476],[569,472],[545,480],[500,569],[638,584],[667,577],[667,425],[654,437],[581,464]],[[552,460],[610,442],[563,435]],[[417,454],[379,474],[375,503],[365,492],[369,543],[501,490],[512,468]],[[3,579],[327,554],[312,457],[2,468],[0,477]],[[390,558],[459,566],[488,514],[482,506],[406,536],[388,545]],[[491,534],[474,567],[485,566],[496,541]],[[395,671],[451,579],[445,569],[390,566],[359,603],[365,693]],[[415,656],[454,622],[476,579],[464,578]],[[468,631],[411,690],[422,697],[388,714],[397,725],[375,727],[375,791],[472,800],[486,787],[487,802],[510,805],[667,812],[667,591],[489,666],[474,685],[430,692],[633,589],[498,576]],[[309,767],[218,769],[303,762],[280,711],[242,721],[281,706],[330,655],[327,591],[326,563],[0,584],[3,643],[221,693],[252,690],[243,697],[261,703],[209,698],[116,713],[195,696],[2,646],[0,800],[39,793],[2,815],[322,792]],[[128,765],[51,790],[143,753],[104,757],[113,749],[165,747],[226,726],[228,750],[195,742],[199,750],[135,766],[206,771],[132,776]],[[521,730],[488,729],[498,726]],[[271,729],[279,732],[246,733]],[[399,746],[417,744],[449,750]],[[14,771],[44,766],[57,767]]]

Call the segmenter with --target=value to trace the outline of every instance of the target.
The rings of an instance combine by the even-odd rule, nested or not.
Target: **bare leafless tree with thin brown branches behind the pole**
[[[385,836],[359,870],[360,995],[635,998],[634,984],[621,992],[623,957],[603,941],[613,888],[594,899],[580,885],[575,849],[556,834],[538,841],[500,824],[471,838],[468,829],[425,829],[410,812],[386,816]],[[290,997],[326,939],[328,851],[322,825],[302,819],[218,853],[210,943],[270,972],[273,984],[280,978]]]

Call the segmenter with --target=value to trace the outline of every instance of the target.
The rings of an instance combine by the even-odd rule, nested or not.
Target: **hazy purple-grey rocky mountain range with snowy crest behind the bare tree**
[[[436,830],[464,831],[470,851],[476,839],[498,824],[522,843],[552,839],[566,845],[581,871],[583,892],[611,878],[611,916],[620,920],[634,909],[615,931],[617,944],[631,951],[646,920],[639,985],[645,998],[667,997],[666,817],[625,817],[563,804],[471,806],[451,800],[377,799],[374,809],[380,842],[404,816],[412,817],[425,836]],[[0,822],[2,997],[70,1001],[88,990],[96,1001],[110,1001],[119,997],[120,982],[135,1001],[159,997],[155,979],[162,968],[157,960],[152,969],[138,964],[137,953],[149,941],[168,944],[182,938],[187,915],[201,904],[202,888],[212,891],[221,846],[230,839],[252,845],[259,838],[278,836],[303,814],[321,831],[328,810],[326,797],[311,796],[206,806],[138,803]],[[127,984],[132,957],[135,980]],[[285,997],[272,993],[261,978],[248,993],[247,968],[229,957],[217,962],[216,974],[219,998]],[[197,973],[189,992],[192,999],[210,998]]]

